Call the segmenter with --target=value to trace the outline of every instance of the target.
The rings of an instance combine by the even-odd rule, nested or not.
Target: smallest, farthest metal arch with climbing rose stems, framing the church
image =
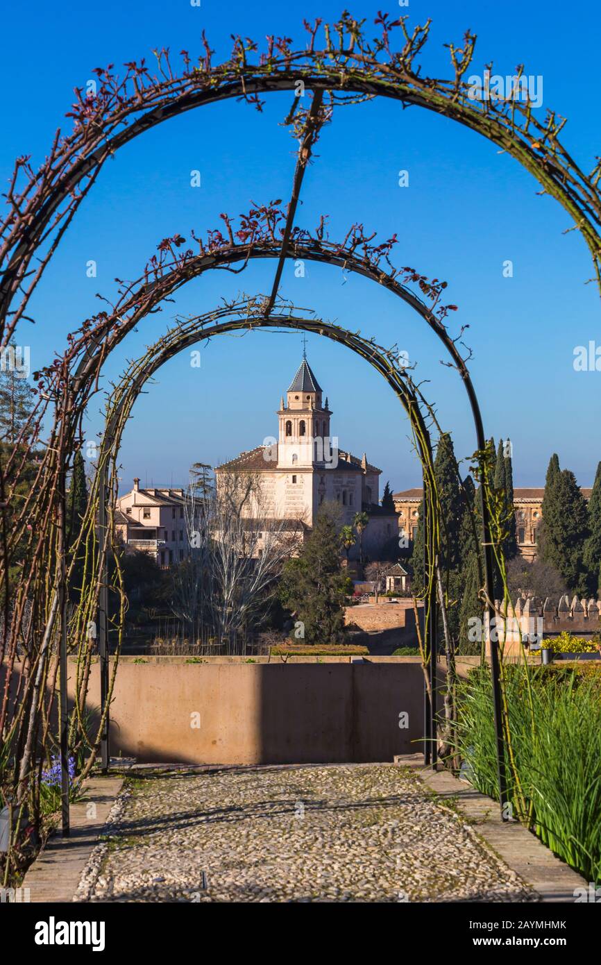
[[[156,298],[156,292],[154,292]],[[128,372],[124,376],[120,386],[116,388],[116,393],[118,389],[124,384],[125,389],[123,390],[123,395],[119,404],[114,405],[111,408],[110,417],[107,419],[107,427],[102,434],[102,444],[100,455],[98,458],[98,471],[96,473],[96,479],[94,483],[93,490],[91,492],[91,499],[89,503],[89,509],[84,520],[81,531],[75,546],[71,547],[73,552],[73,560],[78,552],[78,548],[82,542],[85,542],[86,531],[88,534],[93,533],[96,529],[96,523],[99,522],[99,533],[100,533],[100,548],[96,558],[96,567],[92,565],[92,572],[90,576],[90,584],[92,593],[90,595],[85,595],[85,603],[80,604],[77,611],[77,621],[78,625],[72,629],[73,635],[79,641],[80,653],[83,650],[85,652],[85,660],[83,667],[80,668],[79,662],[77,665],[77,679],[76,679],[76,693],[78,694],[81,690],[85,695],[87,691],[87,682],[90,673],[90,659],[92,657],[92,648],[89,646],[89,642],[86,641],[85,637],[85,626],[89,618],[96,617],[96,606],[99,615],[100,624],[100,640],[99,640],[99,650],[100,650],[100,660],[101,660],[101,679],[102,679],[102,721],[101,721],[101,731],[103,734],[102,738],[102,757],[107,756],[108,745],[106,743],[106,731],[108,728],[108,707],[110,701],[110,693],[112,690],[112,683],[109,686],[108,683],[108,659],[106,650],[106,619],[107,619],[107,604],[106,604],[106,594],[108,587],[108,580],[106,576],[106,557],[108,551],[108,543],[110,538],[113,537],[112,528],[106,525],[106,510],[109,510],[109,515],[114,507],[114,500],[111,501],[110,498],[110,487],[107,488],[107,467],[109,461],[109,455],[111,458],[116,458],[119,441],[121,438],[121,431],[123,430],[124,422],[130,411],[131,405],[137,395],[141,391],[145,381],[151,376],[152,372],[156,371],[163,362],[176,354],[177,351],[182,350],[186,345],[190,345],[194,342],[198,342],[199,339],[210,339],[217,334],[224,334],[228,331],[234,331],[240,328],[250,330],[257,327],[278,327],[278,328],[303,328],[307,331],[319,332],[319,334],[326,335],[342,345],[348,345],[353,348],[358,354],[362,355],[367,359],[372,366],[374,366],[377,371],[384,375],[389,384],[396,391],[396,395],[401,400],[405,410],[410,416],[412,422],[412,427],[414,429],[414,438],[416,439],[416,446],[420,452],[423,461],[423,476],[424,476],[424,488],[425,488],[425,506],[430,507],[429,512],[432,518],[438,515],[435,502],[436,502],[436,491],[435,484],[433,480],[433,466],[431,458],[431,445],[429,440],[429,433],[427,427],[423,422],[423,415],[420,411],[420,400],[421,393],[419,390],[412,388],[411,378],[407,372],[403,372],[398,366],[398,359],[395,351],[381,350],[379,346],[376,346],[373,340],[367,340],[362,338],[358,334],[349,333],[339,326],[331,325],[330,323],[324,322],[321,319],[306,319],[299,317],[281,316],[281,315],[271,315],[270,317],[264,316],[264,306],[267,298],[254,299],[252,301],[244,302],[241,305],[229,307],[225,310],[219,310],[209,313],[207,316],[192,319],[188,321],[185,325],[178,324],[178,328],[169,333],[168,336],[163,337],[159,343],[154,346],[153,350],[142,360],[132,364],[132,369],[138,372],[136,378],[132,378],[131,372]],[[242,308],[244,311],[242,312]],[[234,312],[234,309],[237,311]],[[251,314],[250,310],[255,313]],[[148,315],[152,309],[150,305],[147,305],[145,315]],[[257,314],[259,313],[259,314]],[[221,321],[220,323],[215,322],[216,318],[229,316],[230,320],[227,322]],[[235,317],[232,318],[232,315]],[[120,320],[123,320],[122,316],[119,316]],[[210,328],[205,328],[207,319],[212,321],[213,324]],[[139,313],[136,317],[139,319]],[[85,327],[84,327],[85,330]],[[118,330],[118,336],[121,340],[122,330]],[[79,348],[85,346],[85,338],[80,340]],[[46,389],[49,390],[44,393],[44,395],[50,398],[51,396],[59,400],[59,420],[55,425],[54,433],[50,437],[48,446],[48,460],[50,463],[50,469],[54,473],[55,485],[52,487],[58,493],[59,502],[64,503],[64,489],[65,489],[65,473],[66,473],[66,459],[68,453],[72,450],[72,440],[77,433],[78,422],[81,418],[82,405],[83,402],[80,401],[79,406],[73,404],[72,392],[75,391],[79,394],[81,399],[89,400],[94,394],[95,387],[97,386],[97,379],[99,375],[99,369],[103,361],[103,356],[101,353],[97,353],[94,357],[95,365],[92,369],[88,369],[88,372],[84,374],[81,371],[82,366],[77,367],[78,374],[72,377],[69,372],[68,364],[64,361],[63,368],[52,367],[51,369],[44,372],[43,378],[46,385]],[[151,361],[153,359],[153,361]],[[71,363],[72,363],[71,358]],[[50,391],[53,387],[54,391]],[[76,387],[76,388],[74,388]],[[67,391],[66,391],[67,390]],[[118,427],[119,431],[118,431]],[[65,440],[68,440],[67,444]],[[57,443],[57,445],[51,445],[52,443]],[[56,455],[58,454],[58,455]],[[113,477],[114,478],[114,477]],[[48,490],[50,492],[50,490]],[[52,504],[54,501],[54,496],[50,496],[49,503]],[[96,519],[96,510],[98,512],[98,518]],[[64,507],[61,510],[59,508],[59,528],[61,528],[61,523],[65,523],[65,510]],[[110,536],[109,536],[110,534]],[[432,539],[432,548],[433,548]],[[63,537],[64,545],[64,537]],[[430,554],[430,546],[428,545],[428,559]],[[72,569],[72,566],[71,566]],[[430,584],[432,583],[432,573],[433,567],[429,565],[428,579]],[[65,567],[65,553],[60,554],[59,559],[59,569],[58,569],[58,582],[55,585],[54,593],[52,596],[52,601],[49,606],[49,618],[46,624],[46,630],[44,631],[44,641],[49,639],[48,630],[51,628],[53,620],[60,620],[61,626],[61,663],[66,665],[67,662],[67,632],[66,628],[68,626],[68,618],[66,611],[66,601],[67,593],[66,588],[68,584],[70,574],[67,572]],[[426,627],[428,616],[430,619],[430,627],[435,628],[435,611],[432,610],[430,613],[432,594],[428,594],[428,600],[426,601]],[[122,596],[123,602],[123,596]],[[99,604],[99,605],[98,605]],[[121,614],[123,620],[123,608]],[[429,630],[430,640],[428,652],[430,655],[430,699],[428,704],[430,707],[429,713],[429,724],[430,733],[434,733],[434,711],[435,697],[436,697],[436,664],[435,661],[431,659],[431,654],[435,653],[436,648],[432,642],[432,634],[435,632],[432,629]],[[40,677],[40,672],[42,669],[41,656],[43,655],[43,644],[41,647],[40,659],[38,662],[38,668],[36,673],[37,684]],[[116,667],[115,667],[116,670]],[[33,679],[33,675],[30,675]],[[61,675],[62,680],[66,680],[67,674],[63,671]],[[61,731],[61,744],[66,749],[68,748],[68,715],[67,715],[67,689],[66,687],[61,687],[60,692],[61,703],[63,706],[62,717],[62,731]],[[76,700],[76,713],[81,721],[81,704]],[[30,724],[33,721],[33,716],[30,717]],[[20,780],[24,781],[27,774],[28,758],[31,757],[32,753],[32,731],[27,731],[27,740],[25,743],[25,752],[21,758],[20,766]],[[429,746],[429,745],[428,745]],[[67,751],[64,755],[67,761]],[[88,768],[94,761],[94,755],[89,758]],[[64,827],[68,829],[68,795],[64,796]]]

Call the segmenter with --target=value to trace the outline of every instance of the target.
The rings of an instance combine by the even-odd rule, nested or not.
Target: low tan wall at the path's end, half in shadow
[[[99,705],[97,664],[88,703]],[[421,750],[422,733],[419,657],[123,659],[111,705],[111,753],[145,762],[392,761]]]

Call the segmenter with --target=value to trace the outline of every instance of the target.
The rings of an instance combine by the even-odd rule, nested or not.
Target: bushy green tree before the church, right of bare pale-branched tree
[[[280,580],[283,605],[304,625],[309,644],[338,644],[344,634],[347,578],[341,567],[336,504],[322,504],[313,533]]]

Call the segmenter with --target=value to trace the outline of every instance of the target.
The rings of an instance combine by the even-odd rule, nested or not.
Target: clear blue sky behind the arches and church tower
[[[518,63],[543,78],[543,108],[568,117],[563,143],[588,171],[601,148],[597,91],[601,16],[589,0],[570,13],[557,4],[482,5],[463,0],[410,0],[350,6],[365,16],[369,33],[378,9],[409,14],[410,22],[431,16],[423,71],[450,73],[443,46],[459,42],[466,27],[478,34],[473,72],[494,61],[510,73]],[[3,12],[5,41],[0,61],[4,92],[0,180],[6,183],[14,157],[31,153],[36,165],[72,102],[72,88],[84,86],[92,69],[109,63],[152,59],[151,49],[201,51],[203,29],[216,59],[231,48],[230,35],[258,41],[287,34],[304,43],[302,20],[336,19],[342,5],[322,0],[302,5],[202,0],[144,4],[104,0],[90,8],[30,2]],[[519,14],[514,11],[519,10]],[[588,18],[587,29],[584,28]],[[22,38],[22,40],[21,40]],[[220,224],[251,200],[287,199],[295,142],[281,125],[289,95],[268,96],[262,114],[235,101],[212,105],[162,124],[125,147],[107,164],[80,207],[47,269],[32,305],[36,326],[21,329],[17,342],[31,345],[32,366],[51,359],[69,330],[98,310],[96,292],[110,297],[116,276],[137,277],[167,234],[190,236]],[[601,372],[574,372],[573,351],[589,340],[601,343],[599,297],[587,248],[560,206],[537,197],[537,183],[511,158],[478,135],[430,112],[370,102],[340,109],[324,129],[303,192],[297,224],[314,227],[329,215],[332,237],[354,221],[397,234],[396,262],[415,265],[428,277],[449,282],[453,317],[470,326],[471,371],[488,434],[510,435],[517,485],[544,482],[549,456],[581,484],[592,482],[597,461]],[[199,169],[202,187],[190,187]],[[399,188],[398,171],[409,171]],[[97,262],[97,277],[86,277],[86,262]],[[503,277],[503,262],[514,265]],[[140,326],[107,367],[115,378],[149,345],[176,312],[200,314],[236,292],[270,290],[275,262],[251,264],[241,275],[213,272],[178,293],[177,302]],[[456,374],[440,365],[441,351],[423,323],[398,299],[341,271],[308,264],[305,278],[288,264],[282,293],[384,345],[397,344],[418,360],[425,392],[436,403],[440,422],[452,431],[459,457],[474,448],[465,396]],[[383,469],[382,484],[395,489],[420,482],[408,427],[391,391],[350,351],[312,336],[308,357],[335,416],[341,448]],[[301,334],[252,333],[224,337],[202,350],[202,367],[187,356],[165,366],[136,403],[123,439],[123,488],[133,476],[143,482],[185,483],[195,461],[215,464],[260,444],[277,427],[275,409],[298,366]],[[96,411],[87,422],[89,438],[100,428]]]

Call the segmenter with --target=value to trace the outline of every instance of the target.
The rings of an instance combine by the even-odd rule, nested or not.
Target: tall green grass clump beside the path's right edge
[[[568,865],[599,882],[601,675],[537,668],[530,671],[529,687],[526,674],[524,667],[505,667],[513,813]],[[463,771],[478,790],[498,797],[488,670],[477,669],[461,681],[458,696]]]

